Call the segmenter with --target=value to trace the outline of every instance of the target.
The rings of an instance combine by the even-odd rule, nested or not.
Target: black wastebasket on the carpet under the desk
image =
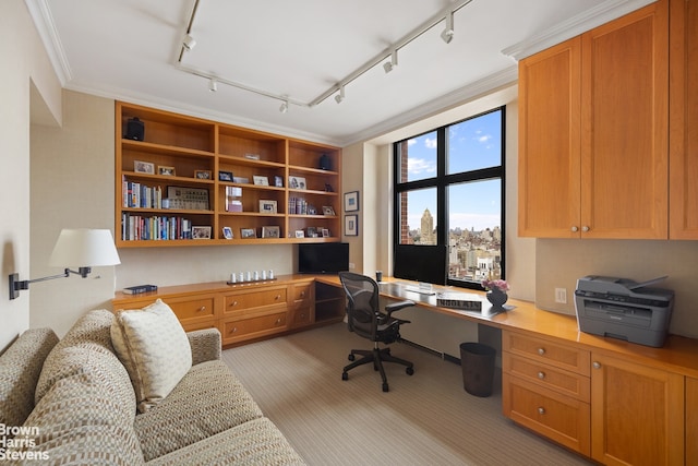
[[[496,354],[496,349],[482,343],[460,344],[462,387],[466,392],[482,397],[492,395]]]

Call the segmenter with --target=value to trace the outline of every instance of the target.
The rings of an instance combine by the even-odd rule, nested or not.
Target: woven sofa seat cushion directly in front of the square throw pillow
[[[161,403],[135,417],[146,461],[200,442],[262,411],[222,361],[192,367]]]

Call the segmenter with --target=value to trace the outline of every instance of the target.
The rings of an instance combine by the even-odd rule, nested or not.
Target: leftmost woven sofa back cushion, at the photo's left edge
[[[52,330],[32,328],[0,356],[0,423],[22,426],[29,416],[44,360],[57,343]]]

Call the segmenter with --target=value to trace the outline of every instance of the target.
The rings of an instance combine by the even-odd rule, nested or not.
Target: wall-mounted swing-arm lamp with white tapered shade
[[[10,299],[20,296],[20,290],[29,289],[29,284],[55,278],[65,278],[76,274],[85,278],[93,266],[120,264],[119,253],[111,231],[107,229],[63,229],[56,241],[49,259],[50,266],[77,267],[77,272],[65,268],[60,275],[51,275],[31,280],[20,280],[20,274],[10,275]]]

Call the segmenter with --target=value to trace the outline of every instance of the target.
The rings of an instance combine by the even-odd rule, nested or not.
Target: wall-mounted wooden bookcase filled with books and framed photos
[[[118,101],[117,246],[339,241],[340,166],[337,147]]]

